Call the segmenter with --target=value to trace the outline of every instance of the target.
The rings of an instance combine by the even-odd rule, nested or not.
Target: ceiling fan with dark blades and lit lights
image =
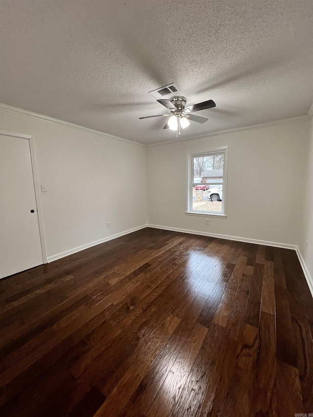
[[[172,97],[170,99],[160,99],[156,100],[162,106],[166,107],[166,109],[170,110],[171,113],[169,114],[156,114],[155,116],[145,116],[139,117],[139,119],[149,119],[150,117],[160,117],[160,116],[170,116],[166,125],[163,129],[171,129],[176,131],[176,137],[180,135],[180,128],[185,129],[187,126],[190,125],[189,120],[197,123],[204,123],[208,119],[205,117],[196,116],[195,114],[191,114],[194,111],[204,110],[204,109],[211,109],[212,107],[216,107],[216,104],[213,100],[203,101],[202,103],[194,104],[193,106],[187,107],[185,109],[185,105],[187,103],[186,97]]]

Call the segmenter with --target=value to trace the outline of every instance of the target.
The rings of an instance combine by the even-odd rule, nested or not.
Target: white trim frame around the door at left
[[[0,130],[0,135],[18,137],[18,138],[21,138],[21,139],[28,140],[29,151],[30,151],[30,160],[31,160],[31,166],[32,166],[32,171],[33,171],[35,198],[36,198],[36,205],[37,205],[37,217],[38,217],[38,224],[39,224],[41,251],[42,251],[42,255],[43,255],[43,263],[48,263],[48,261],[47,261],[47,251],[46,251],[46,246],[45,246],[44,219],[43,219],[43,212],[42,212],[42,205],[41,205],[41,198],[40,198],[40,187],[39,187],[37,164],[36,164],[34,137],[32,135],[29,135],[29,134],[16,133],[16,132],[7,132],[7,131],[2,131],[2,130]]]

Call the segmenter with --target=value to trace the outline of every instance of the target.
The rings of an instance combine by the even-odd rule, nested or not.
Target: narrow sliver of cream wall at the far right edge
[[[311,118],[308,132],[308,146],[306,149],[305,184],[302,199],[303,212],[298,246],[306,263],[308,271],[313,277],[313,118]],[[306,248],[306,241],[308,247]]]

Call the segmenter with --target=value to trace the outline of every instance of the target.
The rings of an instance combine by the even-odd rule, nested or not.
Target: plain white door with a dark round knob
[[[0,278],[41,263],[29,140],[0,135]]]

